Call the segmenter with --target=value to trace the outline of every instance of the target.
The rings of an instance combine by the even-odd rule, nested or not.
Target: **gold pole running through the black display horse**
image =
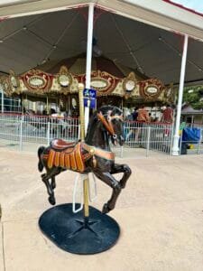
[[[80,139],[85,140],[85,116],[84,116],[84,102],[83,102],[83,84],[78,84],[78,98],[79,98],[79,120],[80,120]],[[88,218],[88,175],[83,182],[83,197],[84,197],[84,216]]]

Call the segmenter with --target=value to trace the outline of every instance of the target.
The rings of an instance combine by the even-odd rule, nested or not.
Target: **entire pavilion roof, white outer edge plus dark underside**
[[[96,54],[165,84],[178,83],[180,33],[188,33],[196,39],[189,39],[185,80],[203,79],[203,43],[198,41],[203,40],[202,16],[161,0],[156,5],[152,0],[1,0],[0,70],[19,74],[48,59],[59,61],[86,51],[89,2],[97,2]]]

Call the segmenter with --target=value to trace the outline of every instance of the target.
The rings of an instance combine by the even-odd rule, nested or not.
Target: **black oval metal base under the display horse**
[[[59,248],[84,255],[111,248],[120,234],[117,222],[111,217],[89,206],[89,219],[84,218],[83,210],[72,212],[71,203],[46,210],[39,226]]]

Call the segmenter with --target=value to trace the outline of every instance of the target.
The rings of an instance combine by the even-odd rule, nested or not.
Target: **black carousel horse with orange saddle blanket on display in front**
[[[117,198],[131,175],[127,164],[115,164],[115,154],[109,145],[109,138],[113,145],[124,144],[123,125],[123,113],[118,107],[100,107],[89,120],[84,142],[68,143],[53,139],[50,146],[41,146],[38,149],[38,169],[42,172],[45,167],[46,173],[42,174],[42,182],[46,185],[52,205],[55,204],[55,176],[71,170],[85,174],[92,172],[110,186],[113,192],[102,212],[107,213],[115,208]],[[115,173],[123,173],[119,181],[115,179]]]

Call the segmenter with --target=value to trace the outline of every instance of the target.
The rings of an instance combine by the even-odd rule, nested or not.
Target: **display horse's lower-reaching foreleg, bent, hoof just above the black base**
[[[105,182],[108,186],[110,186],[113,189],[111,198],[109,201],[107,201],[102,209],[103,213],[107,213],[110,210],[115,209],[115,203],[117,201],[117,198],[121,192],[121,185],[119,182],[115,180],[115,177],[111,175],[111,173],[101,173],[101,172],[94,172],[98,179]]]

